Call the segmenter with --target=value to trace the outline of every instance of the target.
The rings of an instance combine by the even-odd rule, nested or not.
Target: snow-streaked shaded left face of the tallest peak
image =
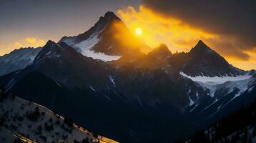
[[[110,21],[119,20],[117,16],[112,12],[107,12],[104,17],[101,17],[99,21],[88,31],[77,36],[64,36],[60,41],[72,46],[78,52],[87,57],[92,57],[93,59],[100,59],[102,61],[113,61],[119,59],[120,55],[109,55],[101,51],[94,51],[93,47],[102,41],[102,34],[104,30],[109,26]],[[109,37],[112,35],[109,33]],[[59,41],[59,42],[60,42]],[[106,43],[109,44],[109,43]],[[107,46],[107,45],[104,45]],[[102,47],[111,49],[111,46]]]

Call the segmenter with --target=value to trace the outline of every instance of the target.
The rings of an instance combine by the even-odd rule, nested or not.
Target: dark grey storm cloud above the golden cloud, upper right
[[[220,50],[225,54],[248,59],[242,51],[256,47],[255,0],[142,0],[142,3],[159,14],[220,35],[220,39],[209,41],[219,49],[223,47]]]

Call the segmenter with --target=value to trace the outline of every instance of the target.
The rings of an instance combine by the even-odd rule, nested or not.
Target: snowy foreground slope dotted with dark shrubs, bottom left
[[[0,142],[115,142],[0,89]]]

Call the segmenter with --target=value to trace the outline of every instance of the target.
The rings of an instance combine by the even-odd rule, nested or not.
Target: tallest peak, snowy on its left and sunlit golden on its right
[[[132,40],[130,44],[127,39]],[[109,11],[91,29],[77,36],[64,36],[59,42],[72,46],[84,56],[102,61],[113,61],[124,54],[133,54],[149,47],[134,36],[127,26]]]

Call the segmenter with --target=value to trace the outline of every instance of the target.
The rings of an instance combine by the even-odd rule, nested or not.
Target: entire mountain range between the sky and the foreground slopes
[[[29,49],[0,57],[0,86],[119,142],[186,139],[256,96],[255,70],[203,41],[187,53],[151,50],[112,12],[82,34]]]

